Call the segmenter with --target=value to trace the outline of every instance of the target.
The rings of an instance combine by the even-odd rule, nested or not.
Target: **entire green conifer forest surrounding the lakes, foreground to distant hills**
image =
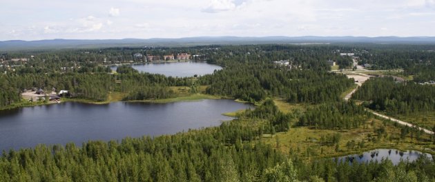
[[[365,142],[382,145],[395,139],[434,149],[435,136],[388,123],[365,110],[434,112],[435,87],[420,84],[434,80],[435,52],[430,51],[434,49],[434,45],[331,44],[0,52],[3,60],[29,58],[1,63],[0,109],[28,102],[21,99],[21,92],[30,88],[69,90],[68,99],[95,102],[108,101],[114,92],[120,93],[123,101],[176,98],[181,95],[177,88],[190,88],[189,94],[200,92],[255,104],[254,109],[238,112],[235,119],[218,127],[3,151],[0,181],[434,181],[435,163],[429,157],[398,165],[388,160],[349,163],[327,154],[321,155],[326,158],[307,158],[294,152],[299,147],[282,152],[278,145],[278,135],[300,129],[324,132],[315,146],[321,151],[340,151],[340,141],[347,143],[345,152],[354,152],[354,145],[363,149]],[[127,64],[146,61],[135,57],[136,53],[163,56],[183,52],[195,55],[193,61],[223,69],[180,78],[138,72]],[[343,101],[342,94],[353,88],[354,80],[331,72],[327,63],[333,60],[340,69],[351,69],[352,58],[340,56],[342,52],[354,53],[358,64],[371,65],[367,69],[403,69],[413,80],[369,79],[350,101]],[[282,60],[289,65],[274,63]],[[120,63],[125,65],[110,69]],[[297,109],[280,110],[277,100]],[[369,140],[342,139],[345,132],[363,129]],[[300,137],[306,137],[304,143],[317,140]],[[310,154],[310,148],[304,150]]]

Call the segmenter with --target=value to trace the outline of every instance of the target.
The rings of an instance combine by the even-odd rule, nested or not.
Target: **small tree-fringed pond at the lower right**
[[[370,161],[382,161],[382,159],[389,159],[393,162],[394,165],[397,165],[400,160],[406,161],[409,160],[410,162],[416,161],[418,157],[422,156],[422,152],[414,151],[414,150],[407,150],[407,151],[400,151],[396,149],[376,149],[376,150],[370,150],[368,152],[364,152],[363,154],[351,154],[348,156],[340,156],[338,157],[338,160],[346,160],[349,159],[351,162],[370,162]],[[429,159],[432,159],[431,154],[425,154],[429,157]]]

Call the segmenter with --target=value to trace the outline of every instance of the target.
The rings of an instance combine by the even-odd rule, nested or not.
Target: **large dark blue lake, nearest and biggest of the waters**
[[[158,136],[220,125],[224,112],[253,106],[228,99],[175,103],[104,105],[66,102],[0,111],[1,150],[35,147],[38,143],[81,145],[88,140]]]

